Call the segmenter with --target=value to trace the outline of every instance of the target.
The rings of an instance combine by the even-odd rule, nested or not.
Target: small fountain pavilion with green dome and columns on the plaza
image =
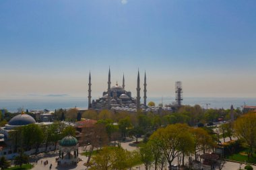
[[[59,142],[58,165],[76,165],[79,162],[78,141],[73,136],[65,136]]]

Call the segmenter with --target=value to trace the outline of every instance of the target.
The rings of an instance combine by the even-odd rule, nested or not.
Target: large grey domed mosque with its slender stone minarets
[[[114,108],[129,108],[129,111],[137,111],[141,108],[146,108],[146,99],[147,99],[147,83],[146,83],[146,73],[144,76],[143,83],[143,103],[140,103],[140,79],[139,79],[139,71],[137,75],[137,97],[131,97],[131,91],[125,90],[125,76],[123,75],[123,85],[118,85],[116,83],[111,87],[111,75],[110,69],[108,71],[108,89],[102,93],[102,97],[96,100],[92,100],[92,83],[91,83],[91,74],[89,75],[89,89],[88,89],[88,109],[94,110],[103,110],[103,109],[114,109]]]

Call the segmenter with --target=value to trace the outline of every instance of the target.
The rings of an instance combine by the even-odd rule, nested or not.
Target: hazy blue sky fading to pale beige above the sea
[[[0,97],[92,95],[112,82],[135,95],[255,97],[255,0],[0,1]],[[142,84],[142,82],[141,82]]]

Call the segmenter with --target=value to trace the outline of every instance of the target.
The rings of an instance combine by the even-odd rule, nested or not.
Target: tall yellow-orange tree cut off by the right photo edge
[[[249,147],[248,159],[253,156],[253,147],[256,146],[256,114],[249,113],[239,117],[234,122],[234,130],[238,138],[245,141]]]

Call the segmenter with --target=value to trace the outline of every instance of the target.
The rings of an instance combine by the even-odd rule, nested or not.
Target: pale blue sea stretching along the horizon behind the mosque
[[[174,97],[148,97],[148,101],[158,103],[172,103]],[[143,99],[141,99],[143,102]],[[206,103],[210,103],[208,108],[241,108],[242,105],[256,105],[256,98],[243,98],[243,97],[184,97],[184,105],[199,104],[201,107],[206,108]],[[81,97],[49,97],[46,99],[0,99],[0,109],[7,109],[9,112],[17,112],[18,108],[24,110],[51,110],[63,108],[80,108],[86,109],[88,107],[88,98]]]

